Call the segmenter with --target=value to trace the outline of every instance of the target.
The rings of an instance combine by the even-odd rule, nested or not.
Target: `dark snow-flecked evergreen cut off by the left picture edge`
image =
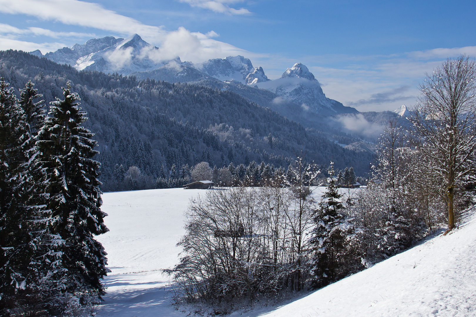
[[[25,141],[28,125],[13,88],[0,78],[0,312],[9,314],[21,283],[25,280],[22,257],[24,243],[28,244],[26,203],[19,188],[22,163],[27,161]],[[31,219],[30,219],[31,220]],[[24,228],[22,229],[22,225]],[[27,261],[23,265],[21,261]]]

